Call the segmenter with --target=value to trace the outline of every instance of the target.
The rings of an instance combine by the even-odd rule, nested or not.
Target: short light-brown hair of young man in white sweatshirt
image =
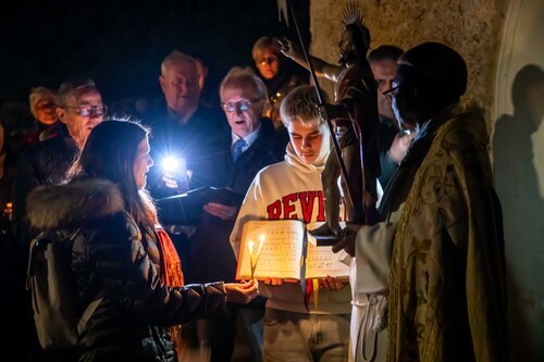
[[[300,122],[305,125],[325,123],[318,109],[319,100],[313,86],[299,86],[293,89],[282,101],[280,114],[283,124]]]

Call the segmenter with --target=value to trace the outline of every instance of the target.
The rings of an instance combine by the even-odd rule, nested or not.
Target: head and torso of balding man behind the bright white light
[[[196,60],[176,50],[161,64],[159,83],[166,102],[166,114],[149,122],[152,130],[151,152],[156,165],[148,176],[154,198],[173,196],[200,186],[222,186],[214,170],[220,145],[227,132],[219,109],[199,104],[201,88]],[[169,158],[184,161],[190,172],[190,185],[183,185],[185,175],[164,172]],[[177,184],[180,185],[175,185]],[[181,182],[181,183],[180,183]]]

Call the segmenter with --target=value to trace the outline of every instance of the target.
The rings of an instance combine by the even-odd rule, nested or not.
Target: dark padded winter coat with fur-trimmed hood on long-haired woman
[[[39,187],[28,198],[28,220],[37,229],[77,230],[72,271],[82,310],[106,291],[82,335],[81,361],[175,361],[165,327],[225,302],[223,283],[182,288],[161,283],[154,233],[135,224],[110,182]]]

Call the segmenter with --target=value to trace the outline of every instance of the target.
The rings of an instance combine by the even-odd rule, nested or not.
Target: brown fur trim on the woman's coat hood
[[[119,187],[106,179],[87,179],[36,188],[26,200],[30,226],[40,230],[84,224],[124,210]]]

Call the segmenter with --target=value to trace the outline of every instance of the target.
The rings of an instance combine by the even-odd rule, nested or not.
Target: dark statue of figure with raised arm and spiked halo
[[[321,175],[325,199],[326,224],[312,230],[318,245],[335,244],[343,236],[339,225],[342,197],[347,223],[373,224],[378,220],[376,178],[380,176],[378,150],[378,84],[367,61],[370,33],[361,13],[354,3],[344,10],[343,34],[339,46],[339,65],[309,57],[316,75],[335,83],[334,104],[323,104],[324,117],[334,125],[334,135],[341,158],[331,153]],[[282,42],[282,52],[309,68],[300,51],[288,39]],[[344,163],[345,175],[341,163]]]

